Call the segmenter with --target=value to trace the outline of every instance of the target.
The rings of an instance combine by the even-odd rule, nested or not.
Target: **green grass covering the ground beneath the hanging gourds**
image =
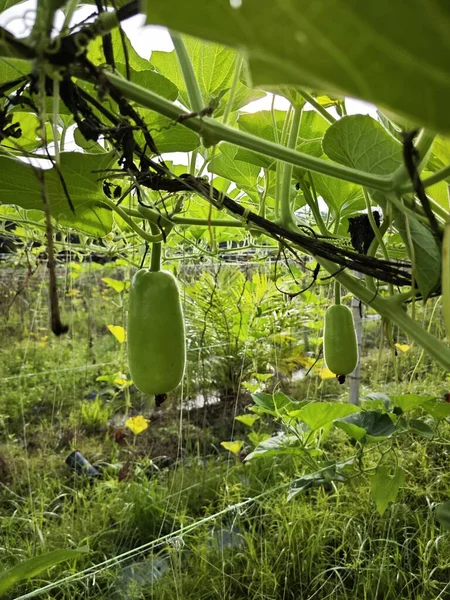
[[[106,276],[121,276],[120,270],[112,273]],[[100,283],[103,276],[105,271],[87,271],[62,288],[71,322],[64,339],[48,336],[41,286],[27,290],[3,323],[0,571],[56,548],[90,548],[5,598],[64,579],[39,597],[450,597],[450,534],[433,514],[434,504],[450,493],[446,443],[398,442],[407,481],[383,516],[375,511],[367,477],[288,501],[300,462],[279,456],[242,463],[221,449],[221,441],[244,439],[247,431],[233,421],[233,405],[209,407],[206,416],[170,404],[153,411],[148,399],[114,383],[127,367],[123,346],[107,325],[123,324],[124,307],[121,295]],[[373,375],[377,350],[368,356],[364,372]],[[400,357],[398,385],[389,376],[376,390],[404,391],[414,356]],[[389,353],[382,357],[389,361]],[[420,391],[445,387],[426,360],[417,373]],[[308,379],[294,394],[320,399],[339,394],[337,389],[334,382]],[[149,428],[136,437],[128,432],[119,445],[115,434],[135,413],[150,415]],[[273,429],[269,421],[258,426]],[[443,425],[443,439],[447,429]],[[101,479],[69,470],[65,458],[75,448],[102,470]],[[348,456],[354,448],[335,433],[326,450]],[[95,566],[111,559],[108,568]]]

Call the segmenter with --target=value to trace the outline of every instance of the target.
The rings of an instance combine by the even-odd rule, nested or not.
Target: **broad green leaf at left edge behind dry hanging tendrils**
[[[111,231],[111,211],[101,205],[104,197],[101,172],[107,170],[114,160],[113,154],[61,154],[61,171],[75,207],[75,214],[70,210],[56,169],[40,171],[45,177],[51,214],[58,223],[75,227],[96,237]],[[0,170],[0,204],[20,206],[27,210],[43,210],[38,169],[22,161],[0,156]]]

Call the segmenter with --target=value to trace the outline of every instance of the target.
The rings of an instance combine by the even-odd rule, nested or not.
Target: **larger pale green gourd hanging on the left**
[[[186,343],[178,284],[168,271],[141,269],[131,282],[128,364],[135,386],[162,397],[183,378]]]

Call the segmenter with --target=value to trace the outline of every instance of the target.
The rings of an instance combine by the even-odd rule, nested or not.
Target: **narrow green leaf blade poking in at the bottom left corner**
[[[29,560],[21,562],[8,571],[3,571],[0,573],[0,595],[2,596],[17,583],[30,579],[31,577],[36,577],[36,575],[39,575],[60,562],[78,558],[80,554],[87,551],[87,548],[53,550],[53,552],[34,556]]]

